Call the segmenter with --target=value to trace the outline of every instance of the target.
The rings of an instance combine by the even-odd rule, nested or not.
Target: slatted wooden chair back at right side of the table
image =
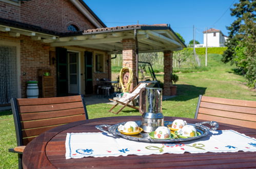
[[[256,129],[256,101],[199,95],[194,118]]]

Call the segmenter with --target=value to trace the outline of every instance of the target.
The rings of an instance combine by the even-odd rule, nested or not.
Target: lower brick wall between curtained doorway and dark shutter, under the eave
[[[49,69],[54,76],[54,93],[56,95],[56,67],[49,65],[49,51],[55,48],[45,49],[46,44],[31,37],[23,36],[12,37],[8,33],[1,32],[0,39],[5,41],[19,41],[21,48],[21,92],[22,98],[26,97],[28,80],[38,81],[38,69]]]

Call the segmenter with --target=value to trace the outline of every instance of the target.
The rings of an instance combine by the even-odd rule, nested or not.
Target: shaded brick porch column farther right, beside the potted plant
[[[163,95],[171,95],[172,51],[164,51],[164,92]]]

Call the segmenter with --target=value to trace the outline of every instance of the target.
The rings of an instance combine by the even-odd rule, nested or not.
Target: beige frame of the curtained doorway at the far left
[[[0,45],[16,47],[16,69],[17,69],[17,97],[22,98],[22,87],[21,87],[21,44],[19,41],[11,40],[0,40]]]

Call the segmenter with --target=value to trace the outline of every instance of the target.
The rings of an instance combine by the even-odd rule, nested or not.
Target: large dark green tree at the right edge
[[[240,0],[231,9],[231,16],[237,17],[227,29],[227,50],[222,61],[231,62],[245,75],[247,85],[256,88],[256,2]]]

